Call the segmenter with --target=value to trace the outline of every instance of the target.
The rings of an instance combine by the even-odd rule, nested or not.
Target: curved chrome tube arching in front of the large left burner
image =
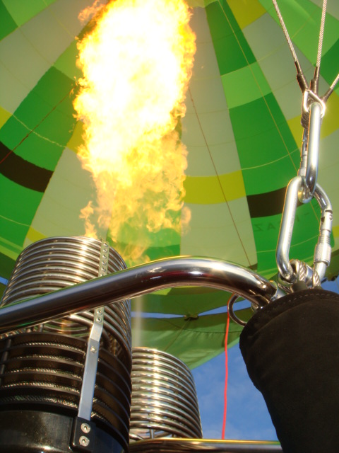
[[[223,289],[256,306],[283,295],[273,282],[239,265],[209,258],[165,258],[5,306],[0,309],[0,333],[177,286]]]

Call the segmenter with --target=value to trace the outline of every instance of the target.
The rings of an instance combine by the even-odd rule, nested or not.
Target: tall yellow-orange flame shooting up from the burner
[[[78,44],[79,156],[97,190],[96,205],[83,210],[86,234],[109,229],[113,241],[133,243],[134,262],[148,231],[179,231],[189,219],[178,214],[186,149],[177,130],[196,50],[189,18],[184,0],[116,0]]]

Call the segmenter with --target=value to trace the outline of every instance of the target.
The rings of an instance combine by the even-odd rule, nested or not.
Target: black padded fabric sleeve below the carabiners
[[[339,295],[288,294],[240,336],[249,377],[265,398],[285,453],[339,452]]]

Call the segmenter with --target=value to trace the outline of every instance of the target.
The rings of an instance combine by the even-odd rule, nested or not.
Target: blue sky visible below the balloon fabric
[[[324,289],[338,292],[337,282]],[[225,308],[224,308],[225,310]],[[225,315],[226,316],[226,315]],[[225,439],[277,440],[263,396],[246,372],[239,345],[227,350],[227,420]],[[221,439],[224,411],[225,354],[192,370],[205,439]]]

